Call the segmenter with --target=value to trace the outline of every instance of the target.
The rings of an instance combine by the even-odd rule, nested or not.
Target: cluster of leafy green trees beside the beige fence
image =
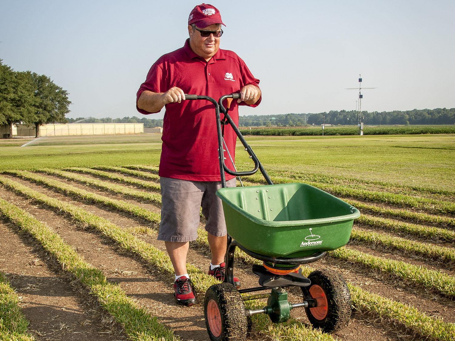
[[[14,71],[0,59],[0,124],[23,123],[38,126],[66,123],[70,112],[68,92],[45,74]]]

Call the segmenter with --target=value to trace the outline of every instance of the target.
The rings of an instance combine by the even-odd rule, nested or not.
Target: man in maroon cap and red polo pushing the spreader
[[[214,106],[203,100],[185,100],[185,94],[219,99],[240,92],[229,114],[238,124],[238,105],[255,107],[261,101],[259,79],[242,59],[219,49],[223,33],[219,11],[212,5],[197,5],[188,19],[189,39],[181,49],[160,57],[137,92],[136,106],[142,114],[159,112],[163,120],[160,183],[162,214],[158,240],[163,240],[175,270],[175,297],[181,304],[195,304],[192,282],[186,268],[189,242],[196,240],[199,212],[207,218],[205,229],[212,252],[209,274],[224,279],[227,232],[221,200],[217,129]],[[224,25],[226,26],[226,25]],[[236,135],[226,128],[224,138],[234,158]],[[232,163],[226,160],[232,168]],[[235,177],[226,174],[227,186]],[[236,287],[240,287],[237,277]]]

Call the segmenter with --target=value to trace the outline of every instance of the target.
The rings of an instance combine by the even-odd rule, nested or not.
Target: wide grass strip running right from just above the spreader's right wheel
[[[330,251],[329,256],[341,258],[348,262],[360,263],[366,267],[390,273],[416,285],[440,292],[448,297],[455,297],[455,277],[445,273],[415,266],[406,262],[375,257],[349,247]]]

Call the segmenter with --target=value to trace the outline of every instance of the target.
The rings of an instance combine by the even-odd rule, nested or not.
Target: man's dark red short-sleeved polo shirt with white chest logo
[[[237,93],[243,86],[258,86],[245,62],[233,51],[218,49],[208,62],[195,54],[189,41],[181,49],[157,60],[147,79],[137,91],[162,93],[177,86],[185,94],[206,95],[218,100],[222,95]],[[252,105],[256,107],[261,99]],[[245,105],[244,102],[240,103]],[[192,181],[220,181],[215,107],[205,100],[185,100],[166,104],[163,122],[162,152],[159,175]],[[136,109],[142,114],[153,114]],[[238,103],[233,100],[229,114],[238,125]],[[224,139],[232,158],[237,136],[230,126],[224,129]],[[233,169],[225,153],[226,165]],[[226,180],[233,178],[226,174]]]

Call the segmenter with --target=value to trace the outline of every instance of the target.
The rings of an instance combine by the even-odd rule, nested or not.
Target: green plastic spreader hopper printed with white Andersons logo
[[[346,245],[357,208],[305,183],[221,188],[227,233],[268,257],[307,257]]]

